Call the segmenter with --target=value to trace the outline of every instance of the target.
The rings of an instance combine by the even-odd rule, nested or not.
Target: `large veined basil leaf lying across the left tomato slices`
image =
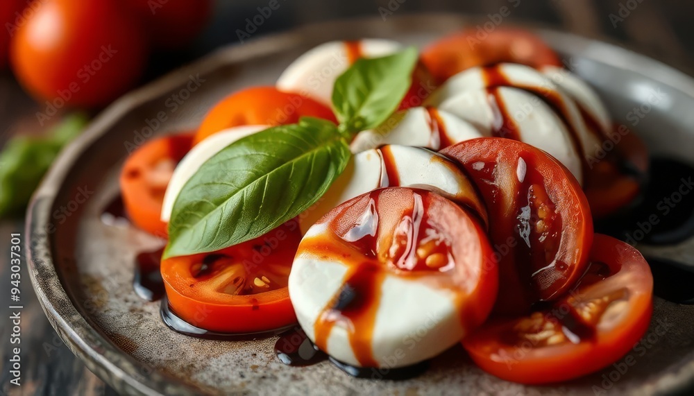
[[[235,141],[178,194],[164,258],[212,252],[269,232],[316,203],[350,155],[333,123],[312,118]]]

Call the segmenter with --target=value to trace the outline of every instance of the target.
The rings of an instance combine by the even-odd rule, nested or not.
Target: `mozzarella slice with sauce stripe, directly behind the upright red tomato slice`
[[[496,95],[486,88],[468,89],[443,101],[440,108],[468,121],[487,137],[498,136],[510,126],[521,141],[545,150],[582,180],[581,157],[564,121],[534,94],[512,87],[498,87]],[[501,108],[509,119],[502,120]]]

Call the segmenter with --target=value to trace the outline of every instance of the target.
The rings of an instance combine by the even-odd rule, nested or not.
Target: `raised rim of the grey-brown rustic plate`
[[[482,17],[465,14],[443,14],[440,12],[421,15],[397,15],[392,21],[404,24],[403,21],[414,19],[421,23],[423,20],[453,21],[454,24],[474,23],[484,21]],[[289,31],[263,35],[246,44],[230,44],[223,46],[209,55],[192,62],[180,69],[154,80],[151,83],[135,89],[102,110],[87,126],[86,130],[77,139],[62,150],[51,169],[46,174],[40,187],[35,191],[26,213],[25,248],[27,252],[26,264],[28,267],[31,284],[37,295],[41,307],[49,319],[51,326],[62,338],[69,349],[76,354],[94,374],[107,384],[122,393],[135,393],[139,395],[189,394],[204,391],[191,384],[180,381],[174,375],[157,372],[149,368],[146,363],[137,361],[133,356],[122,351],[112,343],[108,337],[103,336],[98,329],[92,327],[74,306],[70,296],[60,281],[60,275],[56,270],[51,257],[50,235],[46,233],[46,225],[49,225],[51,209],[55,203],[62,184],[69,171],[76,165],[81,153],[90,148],[94,142],[105,135],[110,126],[122,117],[142,105],[151,98],[156,98],[175,89],[181,83],[185,83],[190,73],[205,74],[214,68],[229,62],[242,62],[244,58],[252,58],[263,53],[271,53],[281,49],[285,43],[296,42],[305,37],[307,33],[320,29],[321,26],[353,26],[353,24],[372,24],[378,17],[358,17],[354,19],[341,19],[327,21],[318,24],[308,24]],[[582,37],[574,33],[557,31],[545,28],[540,24],[509,22],[509,26],[519,26],[539,33],[548,40],[552,46],[561,43],[571,43],[580,47],[572,51],[582,58],[599,60],[618,69],[634,71],[637,74],[655,80],[663,85],[677,89],[694,99],[694,79],[683,71],[676,69],[659,60],[642,55],[636,51],[613,40],[603,40],[591,37]],[[610,51],[611,56],[605,57],[604,52]],[[657,70],[657,73],[653,73]],[[149,373],[146,371],[150,370]],[[688,375],[682,370],[688,370]],[[692,384],[694,382],[694,361],[687,363],[672,381],[666,381],[657,385],[654,391],[672,391]],[[138,373],[140,373],[138,375]],[[146,373],[146,376],[142,375]]]

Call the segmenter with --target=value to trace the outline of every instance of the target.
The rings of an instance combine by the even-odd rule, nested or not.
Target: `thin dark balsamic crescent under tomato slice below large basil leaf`
[[[176,315],[171,305],[169,305],[169,299],[162,298],[162,304],[160,308],[160,316],[164,325],[167,325],[169,329],[174,330],[174,332],[183,334],[184,336],[204,338],[205,340],[218,340],[218,341],[255,341],[262,338],[268,338],[281,334],[287,331],[288,327],[281,327],[280,329],[270,330],[268,332],[254,332],[254,333],[222,333],[222,332],[212,332],[211,330],[202,329],[195,325],[186,322],[180,316]],[[294,325],[292,325],[294,326]]]

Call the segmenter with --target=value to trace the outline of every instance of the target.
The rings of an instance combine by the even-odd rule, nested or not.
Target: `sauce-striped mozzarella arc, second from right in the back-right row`
[[[525,89],[553,103],[557,113],[566,121],[570,130],[575,132],[581,145],[577,151],[584,153],[586,160],[595,150],[595,146],[599,146],[598,137],[586,128],[581,112],[573,99],[564,94],[564,91],[548,76],[523,64],[501,63],[492,67],[474,67],[462,71],[432,92],[426,104],[440,106],[443,101],[462,92],[496,86]]]

